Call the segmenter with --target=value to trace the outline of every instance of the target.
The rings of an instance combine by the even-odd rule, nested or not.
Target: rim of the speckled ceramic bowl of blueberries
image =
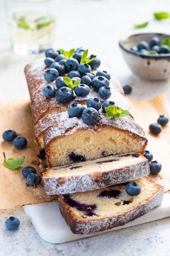
[[[133,37],[133,36],[139,36],[139,35],[157,35],[157,36],[166,36],[166,37],[170,37],[170,35],[169,34],[164,34],[164,33],[155,33],[155,32],[146,32],[146,33],[136,33],[136,34],[131,34],[131,35],[129,35],[129,36],[124,36],[124,38],[122,38],[122,39],[120,39],[119,40],[119,47],[121,48],[121,49],[123,49],[123,50],[125,50],[126,52],[129,52],[129,53],[131,53],[131,54],[133,54],[133,55],[135,55],[135,56],[139,56],[139,57],[142,57],[142,58],[154,58],[154,59],[161,59],[161,58],[164,58],[164,59],[166,59],[166,58],[170,58],[170,53],[166,53],[166,54],[158,54],[158,55],[154,55],[154,54],[143,54],[143,53],[141,53],[141,52],[136,52],[136,51],[134,51],[134,50],[132,50],[132,49],[129,49],[129,48],[127,48],[127,47],[125,47],[124,46],[124,44],[123,44],[123,40],[125,40],[125,39],[128,39],[128,38],[130,38],[130,37]]]

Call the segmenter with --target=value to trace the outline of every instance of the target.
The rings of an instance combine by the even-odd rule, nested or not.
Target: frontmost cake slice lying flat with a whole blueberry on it
[[[130,185],[130,186],[129,186]],[[122,226],[161,204],[164,188],[148,177],[83,193],[59,195],[62,216],[75,234]]]

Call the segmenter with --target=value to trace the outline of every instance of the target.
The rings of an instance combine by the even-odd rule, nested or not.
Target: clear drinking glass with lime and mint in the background
[[[52,47],[60,0],[4,0],[13,52],[40,54]]]

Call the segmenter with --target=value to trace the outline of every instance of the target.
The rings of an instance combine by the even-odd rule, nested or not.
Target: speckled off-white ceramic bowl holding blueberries
[[[160,40],[170,36],[159,33],[143,33],[128,36],[119,41],[119,46],[130,70],[146,80],[166,80],[170,78],[170,54],[141,54],[130,48],[137,46],[140,41],[150,42],[153,36]]]

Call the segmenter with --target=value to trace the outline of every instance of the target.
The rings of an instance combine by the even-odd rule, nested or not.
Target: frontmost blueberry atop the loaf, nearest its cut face
[[[95,124],[99,119],[99,114],[95,108],[86,108],[82,112],[82,120],[85,124]]]

